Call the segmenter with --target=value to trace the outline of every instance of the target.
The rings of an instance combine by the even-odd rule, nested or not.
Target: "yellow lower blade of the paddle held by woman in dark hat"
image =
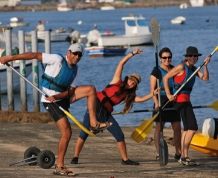
[[[144,141],[153,128],[153,122],[159,115],[156,113],[151,119],[145,120],[140,126],[138,126],[132,133],[131,137],[137,143]]]

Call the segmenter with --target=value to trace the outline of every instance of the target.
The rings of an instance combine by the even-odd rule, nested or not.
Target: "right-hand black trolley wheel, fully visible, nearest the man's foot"
[[[41,151],[37,156],[37,163],[43,169],[51,168],[55,163],[55,155],[52,151]]]

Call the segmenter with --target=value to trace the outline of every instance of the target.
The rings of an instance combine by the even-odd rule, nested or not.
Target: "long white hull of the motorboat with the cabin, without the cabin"
[[[115,36],[102,36],[98,40],[99,46],[137,46],[144,44],[151,44],[151,33],[147,35],[115,35]]]

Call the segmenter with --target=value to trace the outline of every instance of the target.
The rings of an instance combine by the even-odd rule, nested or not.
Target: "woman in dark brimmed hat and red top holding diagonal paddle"
[[[196,165],[196,162],[191,160],[188,155],[189,146],[194,136],[195,132],[198,130],[197,121],[195,114],[190,102],[190,94],[194,86],[196,76],[201,80],[209,79],[209,72],[207,69],[207,64],[210,62],[210,57],[205,58],[204,70],[200,70],[195,76],[182,88],[182,90],[177,94],[176,97],[172,95],[169,88],[169,79],[174,78],[174,88],[177,90],[196,70],[194,66],[198,61],[198,57],[201,54],[198,53],[198,49],[193,46],[189,46],[186,49],[185,60],[183,63],[177,65],[172,70],[170,70],[164,77],[164,87],[166,91],[167,98],[176,102],[176,108],[180,112],[184,131],[181,138],[181,158],[179,163],[183,165]]]

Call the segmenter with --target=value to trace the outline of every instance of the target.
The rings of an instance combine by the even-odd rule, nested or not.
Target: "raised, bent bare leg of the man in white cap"
[[[71,98],[71,102],[75,102],[77,100],[80,100],[84,97],[87,97],[87,107],[89,111],[89,117],[90,117],[90,125],[91,127],[96,127],[99,122],[96,118],[96,90],[94,86],[79,86],[75,89],[74,96]],[[106,123],[100,123],[101,127],[106,127]]]

